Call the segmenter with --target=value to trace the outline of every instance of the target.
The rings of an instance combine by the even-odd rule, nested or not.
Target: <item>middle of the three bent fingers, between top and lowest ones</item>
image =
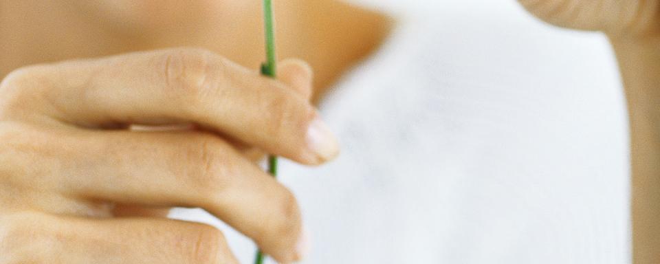
[[[214,135],[67,131],[40,148],[67,153],[58,163],[32,165],[47,166],[54,178],[41,180],[67,197],[204,208],[275,259],[300,255],[302,223],[292,192]]]

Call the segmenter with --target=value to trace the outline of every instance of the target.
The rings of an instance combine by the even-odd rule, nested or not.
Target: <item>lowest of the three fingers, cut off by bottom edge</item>
[[[238,263],[209,225],[169,219],[3,217],[1,263]]]

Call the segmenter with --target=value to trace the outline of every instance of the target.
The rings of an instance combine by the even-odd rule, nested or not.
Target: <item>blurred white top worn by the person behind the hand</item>
[[[342,155],[281,166],[313,238],[305,263],[630,262],[626,114],[604,36],[512,0],[362,2],[399,26],[322,106]],[[254,245],[222,228],[251,263]]]

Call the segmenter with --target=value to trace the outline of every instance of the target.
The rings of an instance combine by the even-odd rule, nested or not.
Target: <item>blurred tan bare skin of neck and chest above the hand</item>
[[[0,0],[0,78],[23,65],[164,47],[204,47],[254,69],[265,58],[261,1],[181,2],[179,12],[171,6],[160,10],[151,1],[132,1],[137,6],[123,9],[111,5],[125,1],[97,2]],[[308,61],[319,89],[388,32],[382,14],[336,0],[274,5],[278,57]]]

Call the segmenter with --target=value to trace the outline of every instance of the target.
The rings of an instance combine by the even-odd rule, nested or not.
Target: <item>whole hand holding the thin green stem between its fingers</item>
[[[171,206],[206,209],[276,260],[299,259],[296,198],[246,153],[321,164],[338,147],[309,104],[309,67],[289,61],[280,74],[187,49],[10,74],[0,263],[236,263],[219,230],[164,218]]]

